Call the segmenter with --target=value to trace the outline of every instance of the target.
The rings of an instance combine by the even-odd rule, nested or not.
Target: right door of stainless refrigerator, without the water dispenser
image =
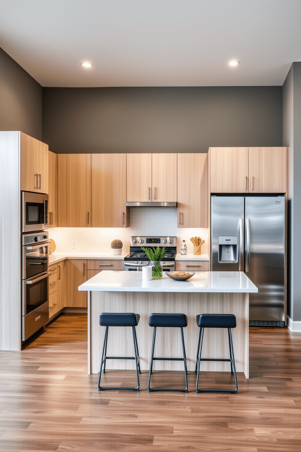
[[[245,274],[258,287],[250,321],[284,321],[284,253],[284,197],[246,197]]]

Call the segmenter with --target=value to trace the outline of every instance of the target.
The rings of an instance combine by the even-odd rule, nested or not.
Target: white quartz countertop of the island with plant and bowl
[[[79,290],[102,292],[239,292],[255,293],[257,287],[243,272],[195,272],[188,281],[142,280],[142,272],[107,270],[79,286]]]

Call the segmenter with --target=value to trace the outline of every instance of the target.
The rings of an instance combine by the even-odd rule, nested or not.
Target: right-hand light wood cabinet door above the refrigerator
[[[286,174],[286,147],[249,147],[249,193],[286,193]]]

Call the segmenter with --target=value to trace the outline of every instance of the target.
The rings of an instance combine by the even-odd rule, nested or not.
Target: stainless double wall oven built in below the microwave
[[[48,232],[22,235],[22,340],[49,320]]]

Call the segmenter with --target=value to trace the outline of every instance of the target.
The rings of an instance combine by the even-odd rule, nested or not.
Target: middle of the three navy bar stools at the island
[[[185,353],[185,344],[184,344],[184,336],[183,336],[183,328],[187,326],[187,315],[185,314],[151,314],[149,316],[149,326],[153,326],[153,346],[152,346],[152,354],[151,354],[151,362],[149,367],[149,376],[148,376],[148,392],[150,391],[188,391],[188,382],[187,382],[187,365],[186,365],[186,353]],[[153,351],[155,348],[155,339],[156,339],[156,330],[157,327],[172,327],[172,328],[181,328],[181,337],[182,337],[182,347],[183,347],[183,358],[154,358]],[[184,361],[184,372],[185,372],[185,389],[172,389],[172,388],[151,388],[150,387],[150,377],[153,373],[153,360],[157,361]]]

